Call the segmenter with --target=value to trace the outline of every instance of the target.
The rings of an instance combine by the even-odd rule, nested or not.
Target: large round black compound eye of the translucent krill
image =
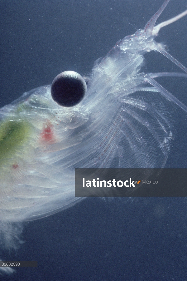
[[[87,90],[83,77],[74,71],[64,71],[57,75],[51,84],[51,96],[60,106],[77,105]]]

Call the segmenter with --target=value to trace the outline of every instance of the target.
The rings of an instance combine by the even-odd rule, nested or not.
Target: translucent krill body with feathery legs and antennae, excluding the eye
[[[143,30],[118,41],[98,59],[84,99],[59,106],[50,86],[26,92],[0,110],[1,243],[16,248],[19,223],[64,210],[74,197],[75,168],[164,167],[173,138],[170,107],[187,107],[154,77],[183,73],[141,72],[143,54],[157,51],[178,67],[155,37],[180,14],[154,27],[169,0]]]

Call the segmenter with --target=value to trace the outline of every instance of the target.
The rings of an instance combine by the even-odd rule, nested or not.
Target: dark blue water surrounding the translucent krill
[[[89,74],[93,62],[124,36],[143,28],[162,0],[0,0],[0,102],[51,84],[57,74]],[[158,23],[187,9],[171,0]],[[133,25],[131,25],[131,24]],[[187,17],[163,28],[157,41],[187,66]],[[137,27],[135,27],[136,25]],[[159,53],[146,54],[146,72],[179,71]],[[187,81],[157,79],[187,105]],[[173,113],[175,139],[166,163],[187,168],[187,115]],[[126,203],[87,199],[26,224],[25,243],[8,260],[37,260],[2,280],[185,280],[187,199],[144,198]]]

